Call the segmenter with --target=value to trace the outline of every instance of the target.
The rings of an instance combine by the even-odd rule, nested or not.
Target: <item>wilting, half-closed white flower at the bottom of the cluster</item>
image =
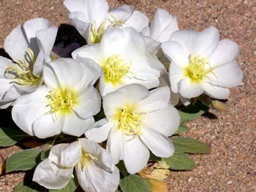
[[[85,191],[114,192],[119,185],[119,170],[108,151],[86,138],[53,146],[49,157],[36,167],[33,181],[47,189],[62,189],[71,180],[74,167]]]

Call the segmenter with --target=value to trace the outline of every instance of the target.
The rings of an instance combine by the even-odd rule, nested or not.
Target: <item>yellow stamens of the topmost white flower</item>
[[[109,20],[112,22],[111,26],[117,26],[119,24],[125,24],[124,20],[116,20],[114,16],[111,15],[112,18],[114,18],[114,21],[110,21],[108,18],[100,25],[100,28],[96,29],[96,21],[91,25],[90,32],[89,32],[89,38],[91,40],[91,43],[100,43],[101,39],[103,37],[103,34],[105,32],[105,25],[107,21]]]

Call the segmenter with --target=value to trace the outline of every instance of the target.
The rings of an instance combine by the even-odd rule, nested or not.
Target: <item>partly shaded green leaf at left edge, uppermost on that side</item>
[[[19,130],[0,128],[0,146],[12,146],[27,136]]]

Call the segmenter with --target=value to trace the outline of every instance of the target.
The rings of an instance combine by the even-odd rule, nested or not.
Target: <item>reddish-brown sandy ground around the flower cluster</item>
[[[256,82],[256,2],[255,0],[108,0],[111,8],[123,5],[133,6],[152,19],[157,8],[164,8],[177,15],[181,30],[204,30],[216,26],[221,39],[229,38],[241,48],[238,64],[244,74],[241,94],[226,102],[233,111],[211,114],[187,123],[191,128],[185,137],[195,138],[212,147],[212,154],[191,155],[197,164],[192,171],[172,171],[168,182],[169,191],[256,191],[255,166],[255,82]],[[43,17],[53,26],[71,24],[63,6],[63,0],[0,0],[0,49],[6,35],[19,23],[31,18]],[[81,42],[63,32],[59,41]],[[2,50],[0,50],[2,53]],[[1,119],[3,121],[3,119]],[[0,148],[8,156],[22,150],[20,146]],[[16,172],[0,177],[0,191],[13,191],[24,173]]]

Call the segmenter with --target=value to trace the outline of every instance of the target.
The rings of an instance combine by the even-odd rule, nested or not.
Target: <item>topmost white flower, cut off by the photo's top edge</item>
[[[148,18],[132,6],[120,6],[108,12],[105,0],[65,0],[69,18],[88,44],[98,43],[110,26],[132,26],[138,32],[148,26]]]

